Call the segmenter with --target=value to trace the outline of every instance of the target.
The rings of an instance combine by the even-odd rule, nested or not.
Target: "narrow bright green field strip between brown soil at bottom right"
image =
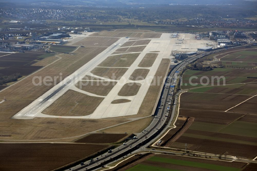
[[[205,168],[205,169],[211,169],[211,170],[219,170],[219,171],[224,171],[224,170],[239,171],[240,170],[239,168],[219,166],[219,165],[206,164],[206,163],[198,163],[198,162],[194,162],[194,161],[156,157],[156,156],[153,156],[153,157],[149,158],[148,160],[162,162],[162,163],[175,164],[175,165],[181,165],[181,166],[190,166],[190,167],[198,167],[198,168]]]

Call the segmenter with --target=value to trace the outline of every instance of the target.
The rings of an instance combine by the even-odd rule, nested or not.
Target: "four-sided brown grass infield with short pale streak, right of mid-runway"
[[[140,53],[128,53],[107,57],[98,67],[130,67]]]

